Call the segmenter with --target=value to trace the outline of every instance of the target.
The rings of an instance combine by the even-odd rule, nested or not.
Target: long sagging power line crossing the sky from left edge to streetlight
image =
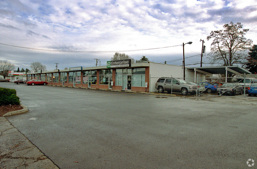
[[[113,52],[131,52],[131,51],[143,51],[143,50],[153,50],[153,49],[163,49],[168,47],[175,47],[175,46],[168,46],[168,47],[158,47],[158,48],[150,48],[150,49],[137,49],[137,50],[125,50],[125,51],[59,51],[59,50],[50,50],[50,49],[37,49],[37,48],[30,48],[30,47],[22,47],[22,46],[14,46],[14,45],[7,45],[0,43],[0,45],[12,46],[12,47],[19,47],[24,49],[32,49],[32,50],[39,50],[39,51],[50,51],[50,52],[65,52],[65,53],[113,53]]]

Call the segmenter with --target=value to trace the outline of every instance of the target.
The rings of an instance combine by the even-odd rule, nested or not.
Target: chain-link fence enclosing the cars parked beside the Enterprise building
[[[179,80],[180,79],[180,80]],[[188,84],[197,86],[195,88],[183,86],[183,78],[159,78],[157,83],[160,84],[158,92],[167,91],[171,94],[179,95],[212,95],[212,96],[233,96],[233,97],[257,97],[257,78],[256,77],[205,77],[186,78]],[[178,86],[176,88],[176,86]],[[179,87],[180,86],[180,87]],[[188,92],[183,92],[187,88]],[[191,91],[191,92],[189,92]]]

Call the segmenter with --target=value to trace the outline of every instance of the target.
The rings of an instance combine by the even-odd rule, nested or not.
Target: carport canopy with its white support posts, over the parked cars
[[[252,74],[248,70],[241,68],[239,66],[215,66],[215,67],[196,67],[196,68],[187,68],[188,70],[193,70],[195,71],[195,76],[196,72],[200,72],[203,74],[225,74],[226,75],[226,82],[227,82],[227,75],[228,74],[237,74],[239,76],[242,76],[242,74]],[[196,77],[195,77],[196,79]]]

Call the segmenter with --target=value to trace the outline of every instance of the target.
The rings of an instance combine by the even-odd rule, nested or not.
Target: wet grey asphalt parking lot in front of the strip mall
[[[29,109],[7,120],[60,168],[247,168],[257,160],[256,98],[0,87],[16,89]]]

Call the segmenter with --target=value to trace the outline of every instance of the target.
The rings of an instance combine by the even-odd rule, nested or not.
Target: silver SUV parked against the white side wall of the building
[[[187,93],[195,94],[197,86],[188,84],[185,80],[179,78],[161,77],[157,80],[155,88],[158,92],[163,93],[167,91],[181,92],[182,95],[187,95]]]

